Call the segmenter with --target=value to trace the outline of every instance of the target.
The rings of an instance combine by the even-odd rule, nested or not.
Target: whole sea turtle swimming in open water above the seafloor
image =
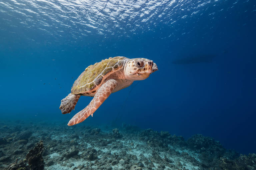
[[[111,93],[130,86],[134,80],[144,80],[158,70],[152,60],[110,57],[88,66],[74,82],[71,93],[61,100],[62,114],[70,113],[80,96],[94,96],[86,108],[78,112],[68,123],[72,126],[83,122],[100,107]]]

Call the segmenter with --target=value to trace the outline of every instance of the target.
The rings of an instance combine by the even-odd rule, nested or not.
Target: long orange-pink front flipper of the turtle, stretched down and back
[[[102,86],[98,89],[96,92],[94,98],[89,103],[86,108],[78,112],[68,123],[68,126],[72,126],[75,124],[79,124],[83,122],[86,118],[88,118],[90,115],[93,115],[93,113],[100,107],[100,105],[108,98],[108,96],[111,94],[111,92],[115,89],[117,86],[117,81],[110,79],[106,81]]]

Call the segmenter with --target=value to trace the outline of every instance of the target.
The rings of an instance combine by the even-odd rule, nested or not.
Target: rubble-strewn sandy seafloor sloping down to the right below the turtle
[[[184,140],[127,124],[68,127],[63,121],[0,121],[0,130],[0,169],[14,170],[8,166],[16,160],[28,165],[25,156],[40,140],[45,170],[256,169],[255,154],[240,155],[200,134]]]

